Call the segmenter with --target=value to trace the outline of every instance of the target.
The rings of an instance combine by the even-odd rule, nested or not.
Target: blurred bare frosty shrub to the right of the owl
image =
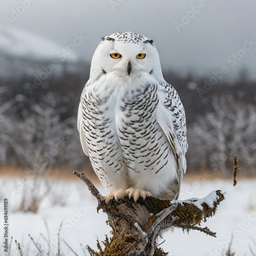
[[[230,95],[212,98],[210,106],[211,111],[188,129],[188,163],[227,175],[237,154],[244,169],[255,173],[256,106],[237,102]]]

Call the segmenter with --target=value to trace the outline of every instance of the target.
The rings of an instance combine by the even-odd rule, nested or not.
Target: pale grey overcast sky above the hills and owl
[[[72,43],[75,34],[86,37],[75,52],[88,61],[102,36],[134,31],[154,40],[163,70],[172,68],[182,74],[190,70],[203,75],[227,66],[230,71],[225,77],[234,77],[245,68],[256,79],[255,0],[0,0],[0,3],[0,23],[9,29],[28,31],[63,47]],[[13,19],[16,11],[22,14]],[[246,40],[251,41],[249,46]],[[239,53],[240,57],[234,59],[233,53]]]

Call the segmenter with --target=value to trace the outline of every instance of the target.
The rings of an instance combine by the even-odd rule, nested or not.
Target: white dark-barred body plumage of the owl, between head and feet
[[[185,114],[176,90],[166,82],[102,94],[96,88],[84,88],[80,107],[88,154],[106,191],[138,187],[176,199],[186,166]]]

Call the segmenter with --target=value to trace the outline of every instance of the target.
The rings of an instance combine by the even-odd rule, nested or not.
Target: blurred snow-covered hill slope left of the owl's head
[[[15,79],[33,76],[41,67],[58,63],[53,73],[62,66],[76,66],[79,55],[74,45],[61,46],[27,31],[0,26],[0,76]],[[75,68],[73,68],[75,70]]]

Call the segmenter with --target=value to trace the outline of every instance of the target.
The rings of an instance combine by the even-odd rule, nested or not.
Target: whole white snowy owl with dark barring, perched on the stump
[[[179,196],[186,170],[186,123],[176,90],[162,75],[153,40],[134,32],[102,38],[78,109],[84,153],[105,202]]]

